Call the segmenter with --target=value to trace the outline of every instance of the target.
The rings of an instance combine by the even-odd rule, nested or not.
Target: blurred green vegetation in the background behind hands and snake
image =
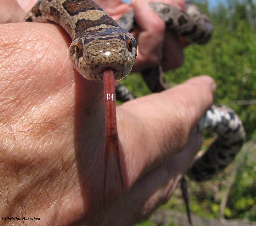
[[[226,104],[238,113],[244,123],[247,140],[250,140],[256,136],[255,2],[227,0],[227,4],[219,3],[214,9],[208,9],[207,0],[192,2],[209,15],[215,27],[214,34],[207,45],[188,46],[184,50],[184,65],[166,73],[166,79],[176,85],[196,75],[212,76],[218,86],[214,102]],[[150,93],[139,74],[128,76],[122,83],[137,96]],[[205,144],[210,143],[209,140],[211,138]],[[253,146],[236,174],[225,209],[226,219],[246,218],[256,221],[255,150]],[[232,169],[231,165],[221,175],[206,183],[189,182],[193,213],[204,217],[220,217],[220,202]],[[185,211],[179,189],[162,208]],[[146,221],[138,225],[154,223]]]

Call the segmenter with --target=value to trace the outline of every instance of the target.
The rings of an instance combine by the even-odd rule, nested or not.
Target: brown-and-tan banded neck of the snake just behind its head
[[[39,0],[28,12],[25,21],[59,24],[72,40],[84,31],[120,27],[91,0]]]

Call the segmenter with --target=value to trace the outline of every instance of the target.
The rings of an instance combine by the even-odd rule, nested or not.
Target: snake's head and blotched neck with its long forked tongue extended
[[[27,13],[25,21],[53,22],[62,26],[72,39],[69,59],[74,68],[84,78],[104,83],[104,191],[108,157],[111,151],[114,152],[123,185],[116,129],[114,80],[124,78],[132,70],[137,55],[134,37],[91,0],[39,0]],[[110,85],[113,91],[109,89]]]

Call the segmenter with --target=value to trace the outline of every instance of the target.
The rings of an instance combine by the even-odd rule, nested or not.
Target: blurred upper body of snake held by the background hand
[[[160,2],[151,2],[150,6],[164,20],[167,29],[175,31],[189,42],[204,44],[211,38],[212,23],[196,5],[187,3],[186,12]],[[132,31],[136,25],[134,12],[128,11],[117,23],[127,31]]]

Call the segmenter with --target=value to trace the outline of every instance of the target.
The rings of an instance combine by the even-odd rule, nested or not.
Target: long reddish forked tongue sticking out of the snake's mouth
[[[103,72],[103,84],[104,84],[104,100],[105,100],[105,154],[104,154],[104,190],[106,188],[106,175],[108,167],[108,157],[111,151],[113,151],[119,176],[122,186],[124,188],[120,157],[119,157],[119,145],[118,134],[116,125],[116,92],[115,92],[115,74],[111,68],[107,68]]]

